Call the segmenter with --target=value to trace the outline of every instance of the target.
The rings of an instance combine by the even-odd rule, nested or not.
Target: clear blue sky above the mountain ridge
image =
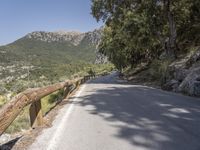
[[[102,26],[91,0],[0,0],[0,45],[32,31],[91,31]]]

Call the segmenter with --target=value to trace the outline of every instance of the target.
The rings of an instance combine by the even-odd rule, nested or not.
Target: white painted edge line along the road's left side
[[[75,99],[73,99],[73,101],[77,101],[78,97],[81,95],[82,91],[84,90],[86,84],[84,84],[80,90],[78,91],[78,93],[76,93],[75,95]],[[74,108],[74,103],[71,103],[69,108],[67,109],[65,116],[63,117],[62,121],[60,122],[59,126],[57,127],[57,130],[55,131],[55,134],[53,135],[53,137],[51,138],[51,140],[49,141],[49,146],[47,147],[47,150],[55,150],[57,147],[57,142],[60,140],[60,136],[63,134],[63,129],[66,126],[67,120],[70,116],[70,114],[72,113]]]

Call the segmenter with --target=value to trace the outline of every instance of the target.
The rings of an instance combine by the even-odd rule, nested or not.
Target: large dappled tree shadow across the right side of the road
[[[94,86],[94,81],[90,84]],[[106,83],[106,81],[105,81]],[[200,101],[140,86],[97,88],[77,105],[117,128],[115,137],[144,149],[200,149]]]

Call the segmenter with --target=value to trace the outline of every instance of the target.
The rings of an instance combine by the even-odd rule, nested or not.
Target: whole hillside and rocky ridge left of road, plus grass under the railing
[[[96,49],[100,37],[101,29],[87,33],[40,31],[1,46],[0,108],[27,88],[46,86],[90,73],[112,71],[114,66],[106,63],[104,56],[98,54]],[[62,91],[43,98],[43,114],[60,99]],[[26,107],[6,133],[29,129],[28,111],[29,107]]]

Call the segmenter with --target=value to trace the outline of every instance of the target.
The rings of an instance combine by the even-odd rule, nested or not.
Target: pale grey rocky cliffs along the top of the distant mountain
[[[44,32],[37,31],[29,33],[25,36],[27,39],[39,40],[47,43],[51,42],[69,42],[74,46],[78,46],[81,42],[87,41],[87,43],[96,46],[96,64],[106,63],[108,60],[105,56],[98,52],[97,45],[99,44],[102,36],[103,28],[96,29],[94,31],[81,33],[81,32],[67,32],[67,31],[56,31],[56,32]]]

